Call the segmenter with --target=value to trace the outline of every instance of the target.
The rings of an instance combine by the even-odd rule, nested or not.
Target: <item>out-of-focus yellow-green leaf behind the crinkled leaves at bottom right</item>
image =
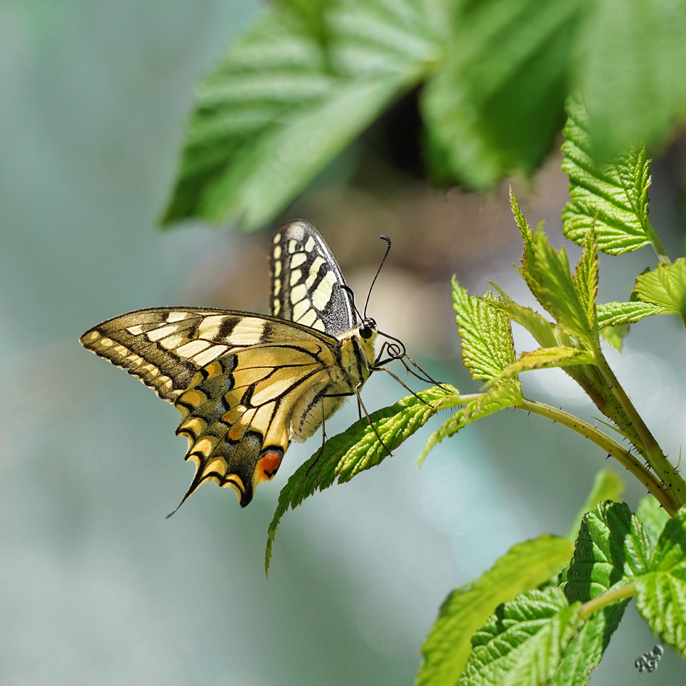
[[[475,582],[453,591],[422,646],[416,686],[453,686],[471,652],[472,633],[500,603],[550,579],[567,564],[572,550],[568,540],[542,535],[510,548]]]

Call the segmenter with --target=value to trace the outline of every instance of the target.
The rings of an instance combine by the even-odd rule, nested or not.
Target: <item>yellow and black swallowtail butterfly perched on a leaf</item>
[[[291,440],[316,432],[379,363],[376,323],[355,309],[311,224],[274,232],[269,264],[269,316],[157,307],[104,321],[80,338],[181,412],[176,434],[188,439],[186,460],[195,463],[181,503],[214,481],[245,507],[277,473]]]

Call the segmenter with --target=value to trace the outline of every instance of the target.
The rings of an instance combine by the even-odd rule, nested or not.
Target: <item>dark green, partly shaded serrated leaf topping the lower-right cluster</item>
[[[560,587],[569,602],[586,602],[647,572],[649,559],[650,542],[641,522],[626,503],[606,500],[582,520]]]

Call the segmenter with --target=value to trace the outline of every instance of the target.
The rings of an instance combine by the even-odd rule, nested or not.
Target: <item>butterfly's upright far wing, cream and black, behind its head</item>
[[[339,336],[357,323],[341,268],[309,223],[298,220],[274,232],[269,259],[272,315]]]

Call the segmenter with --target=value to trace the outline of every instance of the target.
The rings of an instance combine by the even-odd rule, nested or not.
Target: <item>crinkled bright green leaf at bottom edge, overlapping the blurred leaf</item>
[[[527,591],[498,607],[472,638],[459,686],[550,684],[579,633],[579,605],[562,591]]]

